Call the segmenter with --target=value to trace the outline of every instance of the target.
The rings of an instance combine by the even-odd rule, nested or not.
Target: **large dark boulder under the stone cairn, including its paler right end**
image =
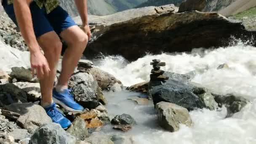
[[[187,108],[189,111],[197,108],[216,109],[217,104],[211,93],[198,84],[190,83],[189,76],[173,72],[165,72],[163,75],[169,77],[166,83],[156,81],[149,83],[149,92],[154,104],[165,101]]]

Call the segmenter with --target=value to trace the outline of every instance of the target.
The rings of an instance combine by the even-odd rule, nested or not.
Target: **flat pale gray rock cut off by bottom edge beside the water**
[[[98,134],[92,134],[86,141],[91,144],[114,144],[108,136],[102,136]]]

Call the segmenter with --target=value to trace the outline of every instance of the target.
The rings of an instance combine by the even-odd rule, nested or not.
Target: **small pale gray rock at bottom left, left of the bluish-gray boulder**
[[[22,139],[30,138],[30,133],[26,129],[15,129],[11,133],[8,133],[9,136],[12,136],[16,142],[21,141]]]

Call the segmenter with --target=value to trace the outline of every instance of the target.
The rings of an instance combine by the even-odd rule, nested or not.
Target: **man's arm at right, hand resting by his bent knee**
[[[77,10],[80,13],[80,17],[83,23],[83,30],[88,35],[88,37],[91,37],[91,31],[88,26],[88,13],[87,13],[87,0],[75,0],[75,4],[77,6]]]

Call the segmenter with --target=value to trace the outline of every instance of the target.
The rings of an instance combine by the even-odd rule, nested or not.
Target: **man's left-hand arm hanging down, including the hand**
[[[35,37],[31,11],[29,9],[31,2],[32,0],[13,0],[13,7],[21,35],[29,47],[32,73],[34,74],[34,70],[36,70],[37,76],[43,78],[44,74],[49,74],[50,68],[45,56],[40,51],[40,46]]]

